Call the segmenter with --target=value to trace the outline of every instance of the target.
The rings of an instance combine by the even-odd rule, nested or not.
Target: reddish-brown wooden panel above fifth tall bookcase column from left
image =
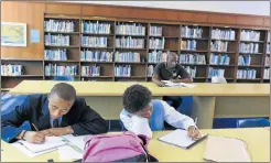
[[[180,21],[187,21],[187,22],[207,22],[208,15],[207,13],[203,12],[185,12],[181,11]]]

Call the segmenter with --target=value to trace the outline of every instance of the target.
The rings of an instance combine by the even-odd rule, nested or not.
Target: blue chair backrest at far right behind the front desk
[[[263,118],[251,118],[237,120],[237,128],[260,128],[270,127],[270,122]]]

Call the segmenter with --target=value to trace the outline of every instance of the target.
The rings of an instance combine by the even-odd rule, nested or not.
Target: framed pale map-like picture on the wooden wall
[[[26,23],[1,22],[1,46],[26,46]]]

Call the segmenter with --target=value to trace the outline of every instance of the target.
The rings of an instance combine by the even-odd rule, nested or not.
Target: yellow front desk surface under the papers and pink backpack
[[[248,152],[252,162],[270,161],[270,130],[264,128],[251,129],[219,129],[202,130],[204,134],[214,134],[221,137],[238,138],[247,143]],[[158,140],[159,137],[169,131],[153,132],[153,139],[149,143],[150,153],[160,162],[203,162],[203,154],[206,140],[195,145],[191,150],[184,150],[174,145],[163,143]],[[1,142],[1,162],[47,162],[53,159],[54,162],[69,162],[72,160],[59,160],[58,152],[54,151],[36,157],[29,159],[19,152],[12,145]]]

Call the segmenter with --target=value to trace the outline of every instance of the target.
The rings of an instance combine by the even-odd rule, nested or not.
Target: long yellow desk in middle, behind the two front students
[[[23,80],[10,90],[12,95],[47,94],[59,82]],[[133,84],[148,87],[153,97],[193,96],[192,118],[198,128],[212,129],[214,118],[269,117],[269,84],[196,84],[195,88],[158,87],[153,83],[136,82],[67,82],[78,96],[106,119],[119,119],[121,96]]]

